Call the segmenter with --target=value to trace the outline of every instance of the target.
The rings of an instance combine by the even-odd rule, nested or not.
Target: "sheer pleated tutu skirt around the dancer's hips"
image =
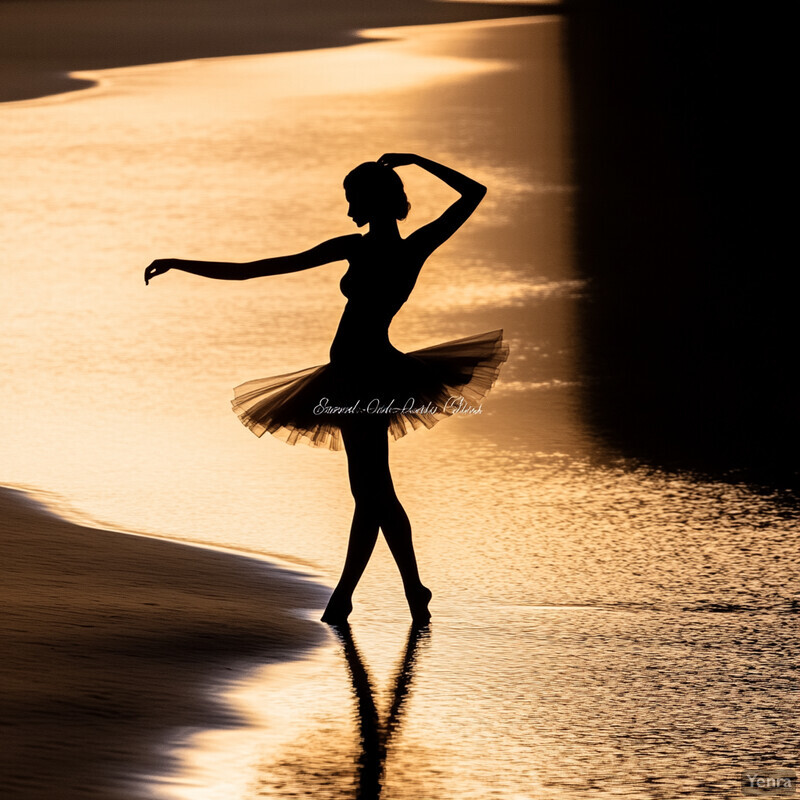
[[[342,429],[386,425],[394,439],[454,414],[478,414],[508,358],[503,331],[402,353],[391,345],[234,389],[233,410],[256,436],[340,450]]]

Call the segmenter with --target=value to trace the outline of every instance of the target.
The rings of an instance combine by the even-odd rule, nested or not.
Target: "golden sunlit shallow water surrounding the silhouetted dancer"
[[[327,361],[344,265],[147,289],[141,274],[157,256],[249,260],[349,232],[341,178],[384,151],[452,163],[490,193],[426,265],[393,342],[503,327],[512,357],[483,414],[393,447],[434,623],[408,646],[379,543],[358,657],[332,633],[253,675],[232,698],[252,727],[187,735],[185,775],[156,790],[339,798],[361,776],[362,796],[380,779],[398,800],[738,797],[745,767],[795,766],[791,505],[624,461],[582,423],[572,321],[591,287],[571,267],[561,22],[392,35],[113,70],[0,110],[0,481],[333,582],[343,455],[257,440],[228,400]],[[449,194],[403,175],[411,229]]]

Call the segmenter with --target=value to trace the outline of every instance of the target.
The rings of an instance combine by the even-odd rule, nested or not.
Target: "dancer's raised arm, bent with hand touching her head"
[[[378,161],[392,168],[416,164],[444,181],[461,195],[438,219],[423,225],[408,237],[409,241],[427,251],[426,254],[432,253],[442,242],[446,242],[469,219],[486,195],[486,187],[482,183],[478,183],[444,164],[414,153],[385,153]]]

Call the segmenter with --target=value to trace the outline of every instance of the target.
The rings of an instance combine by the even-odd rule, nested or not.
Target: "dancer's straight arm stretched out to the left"
[[[327,242],[318,244],[303,253],[277,258],[262,258],[244,264],[225,261],[188,261],[180,258],[159,258],[144,271],[144,282],[149,283],[157,275],[163,275],[171,269],[190,272],[203,278],[216,278],[227,281],[244,281],[249,278],[263,278],[267,275],[283,275],[287,272],[299,272],[303,269],[330,264],[332,261],[344,261],[351,253],[355,238],[360,234],[338,236]]]

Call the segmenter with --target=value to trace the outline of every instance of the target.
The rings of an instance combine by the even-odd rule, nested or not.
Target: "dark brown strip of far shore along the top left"
[[[259,0],[232,0],[222,20],[213,0],[10,0],[0,3],[0,103],[94,85],[73,73],[318,50],[371,41],[361,30],[553,13],[552,3],[281,0],[267,14]]]

